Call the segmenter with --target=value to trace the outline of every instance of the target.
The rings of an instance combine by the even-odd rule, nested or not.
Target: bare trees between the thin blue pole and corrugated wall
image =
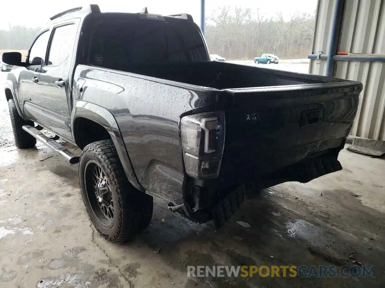
[[[229,60],[246,60],[262,53],[280,58],[307,58],[313,46],[315,13],[282,13],[266,18],[250,8],[218,8],[206,20],[205,38],[211,54]]]

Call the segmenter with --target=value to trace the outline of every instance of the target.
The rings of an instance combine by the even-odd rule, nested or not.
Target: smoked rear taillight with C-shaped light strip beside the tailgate
[[[224,113],[184,116],[182,149],[186,173],[196,179],[218,177],[224,148]]]

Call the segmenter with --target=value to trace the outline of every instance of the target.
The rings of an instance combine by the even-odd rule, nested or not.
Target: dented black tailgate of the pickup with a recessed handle
[[[344,81],[226,91],[233,94],[234,104],[226,111],[220,181],[261,176],[340,147],[357,113],[362,84]]]

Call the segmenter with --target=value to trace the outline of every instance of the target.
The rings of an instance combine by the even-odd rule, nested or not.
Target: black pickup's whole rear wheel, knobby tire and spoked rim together
[[[146,230],[152,217],[152,196],[128,181],[112,140],[84,147],[79,181],[85,208],[102,237],[126,243]]]

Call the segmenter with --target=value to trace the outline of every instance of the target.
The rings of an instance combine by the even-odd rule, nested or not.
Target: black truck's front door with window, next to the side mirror
[[[47,51],[49,35],[49,30],[45,30],[35,38],[26,60],[30,66],[20,72],[18,79],[18,97],[22,113],[26,118],[38,123],[42,120],[39,73]]]

